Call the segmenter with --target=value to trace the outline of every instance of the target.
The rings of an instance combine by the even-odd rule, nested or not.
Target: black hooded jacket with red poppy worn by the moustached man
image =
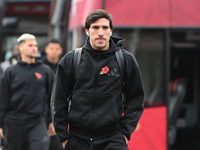
[[[74,50],[60,60],[52,91],[52,109],[55,130],[61,142],[71,135],[95,140],[118,131],[130,139],[143,112],[144,92],[134,56],[122,50],[126,70],[123,111],[123,79],[115,57],[115,51],[123,42],[111,37],[110,48],[102,51],[94,50],[87,39],[75,74],[72,67]],[[71,92],[68,113],[67,99]]]

